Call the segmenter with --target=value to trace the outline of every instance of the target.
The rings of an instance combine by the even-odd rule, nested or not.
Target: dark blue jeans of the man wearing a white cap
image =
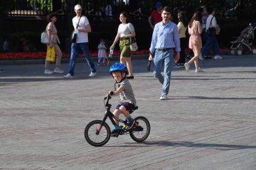
[[[90,71],[96,72],[95,65],[93,64],[92,58],[89,53],[89,43],[72,43],[71,44],[71,56],[69,60],[69,74],[73,76],[75,70],[75,62],[80,51],[83,52],[84,58],[86,58],[87,64],[90,67]]]

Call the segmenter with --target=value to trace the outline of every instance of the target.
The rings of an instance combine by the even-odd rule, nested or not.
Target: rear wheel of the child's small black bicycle
[[[134,120],[133,130],[130,131],[131,139],[136,142],[143,142],[148,138],[150,133],[149,121],[145,117],[137,117]]]

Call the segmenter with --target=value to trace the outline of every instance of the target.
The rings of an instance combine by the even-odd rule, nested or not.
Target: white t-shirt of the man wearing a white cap
[[[76,25],[78,23],[79,18],[77,16],[73,17],[72,22],[73,22],[73,28],[76,28]],[[85,29],[87,25],[90,25],[89,20],[87,19],[86,16],[81,16],[78,29]],[[76,43],[88,43],[88,32],[81,32],[79,31],[76,37]]]

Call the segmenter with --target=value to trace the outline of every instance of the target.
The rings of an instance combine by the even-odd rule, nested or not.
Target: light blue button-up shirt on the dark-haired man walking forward
[[[178,26],[171,21],[167,25],[163,22],[155,25],[149,50],[153,53],[155,49],[164,48],[175,48],[176,52],[181,51]]]

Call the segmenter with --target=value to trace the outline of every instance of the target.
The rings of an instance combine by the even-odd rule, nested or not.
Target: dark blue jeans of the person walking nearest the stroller
[[[213,54],[219,55],[219,43],[216,36],[211,37],[206,35],[206,43],[202,48],[202,55],[209,55],[211,47],[213,48]]]

